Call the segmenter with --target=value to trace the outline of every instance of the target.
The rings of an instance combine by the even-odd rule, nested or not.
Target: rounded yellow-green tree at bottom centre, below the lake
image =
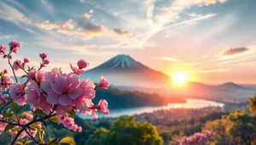
[[[136,122],[135,117],[120,117],[110,130],[100,128],[85,144],[98,145],[163,145],[156,127],[147,122]]]

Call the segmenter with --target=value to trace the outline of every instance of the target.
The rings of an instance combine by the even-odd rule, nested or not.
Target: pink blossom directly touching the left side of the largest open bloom
[[[26,103],[30,104],[31,109],[42,109],[45,114],[52,111],[54,105],[46,102],[46,97],[40,92],[36,81],[31,81],[26,90]]]

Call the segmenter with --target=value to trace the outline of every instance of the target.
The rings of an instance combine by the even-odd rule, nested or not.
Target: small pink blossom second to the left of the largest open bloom
[[[23,106],[26,104],[25,91],[26,87],[20,82],[16,82],[14,86],[10,87],[9,94],[15,100],[15,103]]]

